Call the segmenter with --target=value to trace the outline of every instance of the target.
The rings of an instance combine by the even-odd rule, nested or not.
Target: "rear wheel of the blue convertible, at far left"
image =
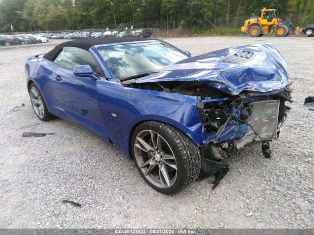
[[[53,115],[49,113],[46,102],[34,83],[29,86],[29,97],[34,112],[40,120],[49,121],[54,118]]]

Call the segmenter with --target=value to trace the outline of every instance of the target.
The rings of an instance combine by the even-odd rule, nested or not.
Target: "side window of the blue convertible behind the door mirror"
[[[63,47],[53,62],[70,70],[80,65],[89,65],[94,73],[100,74],[97,61],[92,54],[78,47]]]

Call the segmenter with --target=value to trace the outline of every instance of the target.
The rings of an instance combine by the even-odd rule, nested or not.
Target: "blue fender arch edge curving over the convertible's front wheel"
[[[139,126],[140,124],[147,122],[147,121],[159,121],[165,124],[168,124],[176,129],[178,129],[179,131],[183,132],[189,139],[191,139],[196,145],[200,146],[203,143],[203,135],[199,132],[203,130],[203,124],[200,123],[200,126],[198,128],[199,131],[192,131],[190,128],[186,127],[185,125],[183,125],[182,123],[170,119],[170,118],[166,118],[163,116],[155,116],[155,117],[150,117],[151,115],[149,115],[148,117],[142,117],[140,120],[137,120],[137,122],[135,122],[129,132],[129,143],[128,143],[128,148],[129,148],[129,156],[130,159],[133,159],[132,157],[132,152],[131,152],[131,139],[132,139],[132,135],[134,133],[134,130],[137,126]]]

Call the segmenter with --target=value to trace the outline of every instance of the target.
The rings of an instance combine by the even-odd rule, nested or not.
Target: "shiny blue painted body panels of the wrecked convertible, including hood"
[[[131,43],[134,42],[123,44]],[[78,124],[105,141],[110,139],[129,157],[132,129],[146,120],[168,123],[199,146],[212,141],[233,140],[248,132],[246,123],[231,119],[219,140],[216,140],[216,132],[207,133],[201,122],[197,109],[198,96],[122,86],[116,82],[97,51],[98,47],[104,46],[108,45],[94,46],[89,51],[105,76],[90,74],[90,68],[86,66],[77,67],[75,71],[61,68],[36,55],[26,61],[27,81],[37,85],[49,112]],[[240,49],[253,51],[254,58],[243,64],[221,62],[224,56]],[[280,89],[287,85],[288,72],[279,52],[270,44],[260,44],[190,57],[159,73],[137,79],[136,82],[196,80],[225,92],[226,96],[231,95],[224,98],[206,97],[202,102],[222,102],[235,99],[232,95],[243,91],[255,92],[257,95],[283,92]],[[253,96],[243,102],[260,98],[261,96]],[[236,108],[233,107],[234,110]]]

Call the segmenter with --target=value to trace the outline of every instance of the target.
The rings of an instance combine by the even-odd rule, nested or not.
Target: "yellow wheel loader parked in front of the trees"
[[[241,31],[248,33],[251,37],[261,37],[266,33],[275,33],[277,37],[286,37],[288,33],[293,33],[294,27],[289,20],[283,22],[277,18],[275,9],[261,10],[259,17],[252,13],[251,18],[244,22]]]

